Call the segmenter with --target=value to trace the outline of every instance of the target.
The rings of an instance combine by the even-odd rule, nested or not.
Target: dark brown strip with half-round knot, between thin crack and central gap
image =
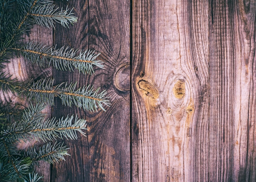
[[[90,181],[130,181],[130,1],[89,0],[89,48],[105,70],[88,82],[108,90],[111,107],[88,113]]]

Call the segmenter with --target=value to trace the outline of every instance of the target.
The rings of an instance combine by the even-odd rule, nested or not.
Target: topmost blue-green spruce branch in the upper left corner
[[[8,2],[1,1],[0,4],[0,37],[4,42],[0,45],[0,68],[4,68],[1,62],[7,62],[6,59],[11,56],[7,49],[12,48],[21,39],[21,34],[28,33],[34,24],[54,28],[54,22],[64,27],[77,22],[73,9],[61,8],[61,11],[57,11],[51,0],[17,0],[18,8],[12,14],[4,13],[10,9]]]

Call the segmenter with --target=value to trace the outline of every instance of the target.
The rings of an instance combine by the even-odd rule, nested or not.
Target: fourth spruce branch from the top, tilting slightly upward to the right
[[[0,138],[7,141],[28,140],[35,138],[36,140],[54,140],[56,138],[63,139],[77,139],[76,132],[80,132],[85,136],[83,129],[86,129],[86,120],[78,119],[77,116],[67,116],[65,119],[62,117],[56,121],[56,118],[44,121],[40,118],[34,122],[21,121],[15,122],[12,126],[7,126],[6,129],[0,132]]]

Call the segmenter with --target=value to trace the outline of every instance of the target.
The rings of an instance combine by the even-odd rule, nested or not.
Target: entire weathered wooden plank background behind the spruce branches
[[[255,0],[57,4],[74,7],[78,23],[35,26],[26,39],[94,49],[105,69],[38,70],[19,58],[8,71],[101,86],[112,105],[88,113],[56,99],[49,116],[86,118],[88,137],[65,141],[66,162],[41,163],[45,182],[256,181]]]

